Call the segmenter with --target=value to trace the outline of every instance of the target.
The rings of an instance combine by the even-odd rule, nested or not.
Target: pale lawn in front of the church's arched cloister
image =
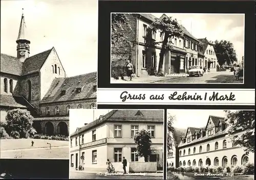
[[[31,141],[34,145],[31,146]],[[51,149],[50,145],[51,144]],[[1,140],[1,159],[69,159],[69,142],[45,139]]]

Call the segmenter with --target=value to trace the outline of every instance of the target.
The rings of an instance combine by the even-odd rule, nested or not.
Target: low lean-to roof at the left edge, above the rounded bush
[[[22,96],[0,94],[0,106],[8,106],[13,108],[33,108],[33,106]]]

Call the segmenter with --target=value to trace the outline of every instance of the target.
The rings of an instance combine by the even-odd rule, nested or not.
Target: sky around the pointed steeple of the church
[[[97,71],[98,1],[1,1],[1,53],[16,57],[23,8],[30,56],[54,46],[67,76]]]

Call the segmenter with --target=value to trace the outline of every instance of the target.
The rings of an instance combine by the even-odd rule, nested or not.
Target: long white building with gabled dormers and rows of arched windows
[[[242,135],[238,132],[235,135]],[[178,166],[222,166],[231,167],[254,162],[254,153],[245,151],[234,144],[227,135],[224,117],[209,116],[206,127],[188,127],[186,135],[181,137],[176,156]],[[233,136],[235,136],[233,135]]]

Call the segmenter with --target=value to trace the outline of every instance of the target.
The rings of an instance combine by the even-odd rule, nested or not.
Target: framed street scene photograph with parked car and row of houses
[[[111,13],[111,83],[244,84],[245,14]]]

